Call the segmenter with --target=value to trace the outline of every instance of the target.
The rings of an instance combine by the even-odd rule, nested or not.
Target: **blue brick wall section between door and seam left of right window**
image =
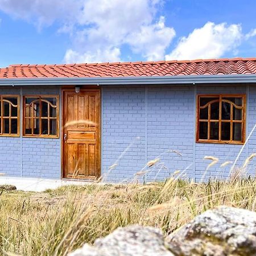
[[[185,168],[191,177],[192,131],[192,87],[102,90],[102,172],[108,181],[134,180],[134,174],[159,155],[159,165],[150,168],[144,179],[164,179]],[[109,170],[113,164],[117,166]]]

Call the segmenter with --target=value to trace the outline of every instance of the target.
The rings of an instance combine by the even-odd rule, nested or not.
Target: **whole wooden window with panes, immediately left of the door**
[[[59,137],[59,96],[24,96],[23,135]]]

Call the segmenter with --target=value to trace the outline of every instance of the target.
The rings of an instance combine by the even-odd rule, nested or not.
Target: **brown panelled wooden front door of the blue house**
[[[100,90],[63,91],[63,177],[100,176]]]

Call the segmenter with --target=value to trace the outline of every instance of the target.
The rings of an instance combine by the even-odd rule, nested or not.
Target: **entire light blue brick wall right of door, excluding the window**
[[[164,179],[175,170],[184,171],[185,177],[196,181],[210,177],[225,179],[229,176],[242,145],[195,143],[195,96],[196,94],[247,94],[246,136],[256,123],[256,86],[196,85],[195,86],[147,86],[129,88],[108,87],[102,91],[102,173],[110,181],[133,179],[148,160],[160,154],[164,167],[148,170],[147,180]],[[139,137],[139,139],[135,139]],[[130,143],[133,144],[130,145]],[[128,149],[125,151],[126,147]],[[182,156],[167,152],[176,150]],[[124,152],[125,151],[125,152]],[[256,152],[256,129],[243,147],[236,162],[242,166],[250,154]],[[218,163],[206,171],[209,160],[204,156],[215,156]],[[115,162],[121,156],[121,159]],[[109,171],[112,164],[118,166]],[[249,174],[255,175],[256,158],[249,165]],[[161,165],[160,165],[161,166]]]

